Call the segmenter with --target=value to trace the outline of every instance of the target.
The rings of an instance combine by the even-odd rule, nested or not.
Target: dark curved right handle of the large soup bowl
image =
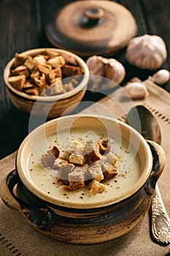
[[[147,143],[150,146],[150,150],[152,151],[153,164],[152,164],[152,172],[150,173],[150,177],[145,185],[145,191],[148,195],[153,195],[155,192],[155,186],[158,181],[158,178],[161,176],[163,171],[166,159],[163,148],[151,140],[147,140]]]

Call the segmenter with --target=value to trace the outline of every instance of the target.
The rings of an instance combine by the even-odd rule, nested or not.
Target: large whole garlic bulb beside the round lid
[[[166,44],[156,35],[134,37],[128,43],[125,58],[141,69],[158,69],[167,58]]]

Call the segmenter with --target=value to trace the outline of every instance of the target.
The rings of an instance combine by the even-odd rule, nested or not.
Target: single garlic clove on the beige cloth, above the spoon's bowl
[[[147,86],[144,83],[128,83],[123,89],[126,93],[125,97],[129,96],[131,99],[142,99],[148,94]]]

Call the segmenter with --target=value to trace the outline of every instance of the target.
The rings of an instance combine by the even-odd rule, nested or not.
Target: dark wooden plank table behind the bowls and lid
[[[0,1],[0,159],[15,151],[23,138],[28,135],[28,118],[22,115],[10,102],[4,86],[3,70],[16,52],[31,48],[53,47],[47,41],[45,27],[55,17],[58,8],[71,1],[62,0],[1,0]],[[163,64],[170,70],[170,0],[120,0],[136,19],[138,34],[157,34],[166,42],[168,59]],[[138,76],[142,80],[150,75],[148,70],[131,67],[125,61],[125,50],[113,56],[126,69],[126,78]],[[170,92],[170,83],[164,89]],[[97,101],[101,94],[85,94],[83,100]],[[158,102],[159,104],[159,102]]]

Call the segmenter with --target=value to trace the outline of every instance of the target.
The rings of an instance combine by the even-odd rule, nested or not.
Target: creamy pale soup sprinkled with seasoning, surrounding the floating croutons
[[[87,140],[91,139],[109,139],[112,146],[111,151],[118,157],[115,166],[118,171],[117,176],[104,183],[107,189],[101,194],[94,195],[86,187],[69,192],[62,189],[62,185],[56,181],[58,171],[41,165],[42,154],[46,153],[47,149],[57,146],[61,151],[60,157],[64,158],[66,157],[64,149],[69,146],[71,140],[79,140],[82,144],[85,144]],[[47,148],[45,143],[39,143],[36,152],[30,154],[28,159],[29,179],[37,189],[40,189],[50,197],[59,198],[63,202],[61,203],[63,206],[69,202],[93,203],[103,199],[107,200],[111,196],[112,200],[114,197],[120,197],[134,186],[142,172],[142,163],[136,148],[124,138],[120,138],[120,135],[108,135],[102,129],[93,129],[93,131],[89,131],[89,129],[73,129],[70,130],[69,135],[68,131],[63,129],[61,132],[48,136],[46,146]]]

